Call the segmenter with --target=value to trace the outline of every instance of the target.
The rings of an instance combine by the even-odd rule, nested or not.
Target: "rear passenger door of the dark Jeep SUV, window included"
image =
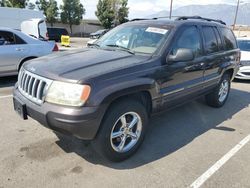
[[[221,64],[225,54],[222,39],[217,27],[202,26],[203,43],[205,51],[204,82],[206,87],[218,83],[221,74]]]

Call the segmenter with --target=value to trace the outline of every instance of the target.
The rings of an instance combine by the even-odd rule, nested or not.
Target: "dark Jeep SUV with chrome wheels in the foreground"
[[[14,109],[122,161],[141,145],[151,114],[200,96],[222,107],[239,62],[235,36],[222,21],[128,22],[91,47],[25,63]]]

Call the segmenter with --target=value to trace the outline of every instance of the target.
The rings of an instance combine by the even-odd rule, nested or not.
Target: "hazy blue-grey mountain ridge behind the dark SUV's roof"
[[[236,6],[227,4],[217,5],[189,5],[173,10],[173,16],[203,16],[207,18],[220,19],[232,25],[234,22]],[[169,11],[161,11],[148,17],[165,17],[169,16]],[[241,4],[239,7],[237,23],[250,25],[250,3]]]

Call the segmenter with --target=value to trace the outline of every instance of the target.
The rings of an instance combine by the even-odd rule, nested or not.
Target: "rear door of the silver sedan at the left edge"
[[[28,52],[27,44],[12,32],[0,31],[0,73],[17,72]]]

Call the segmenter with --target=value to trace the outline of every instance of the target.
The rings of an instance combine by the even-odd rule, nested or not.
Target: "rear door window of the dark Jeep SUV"
[[[213,27],[202,27],[204,39],[205,39],[205,51],[207,54],[215,53],[219,51],[217,39]]]

